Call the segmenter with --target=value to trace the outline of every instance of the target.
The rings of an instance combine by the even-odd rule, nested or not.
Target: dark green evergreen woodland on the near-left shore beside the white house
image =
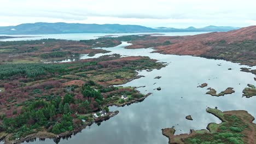
[[[87,83],[83,85],[81,93],[89,101],[74,98],[72,94],[66,94],[63,99],[55,96],[48,100],[46,97],[42,97],[38,100],[28,101],[19,112],[14,111],[11,117],[1,116],[0,130],[13,133],[12,139],[16,139],[42,129],[60,134],[79,128],[83,124],[82,117],[75,113],[92,112],[94,109],[91,109],[90,105],[98,103],[97,105],[100,107],[103,100],[101,93]],[[109,111],[106,106],[103,109]]]

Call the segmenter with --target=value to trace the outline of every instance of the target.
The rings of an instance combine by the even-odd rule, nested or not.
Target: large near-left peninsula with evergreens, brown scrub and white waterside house
[[[123,106],[146,98],[148,95],[133,87],[113,86],[140,77],[136,70],[162,67],[165,65],[149,57],[120,55],[69,63],[2,64],[2,139],[8,143],[41,133],[50,137],[69,135],[94,122],[94,113],[109,113],[109,105]],[[127,99],[121,99],[121,95]]]

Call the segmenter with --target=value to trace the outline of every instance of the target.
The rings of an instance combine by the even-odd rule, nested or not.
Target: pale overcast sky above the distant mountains
[[[256,0],[1,0],[0,26],[34,22],[246,27],[256,25]]]

